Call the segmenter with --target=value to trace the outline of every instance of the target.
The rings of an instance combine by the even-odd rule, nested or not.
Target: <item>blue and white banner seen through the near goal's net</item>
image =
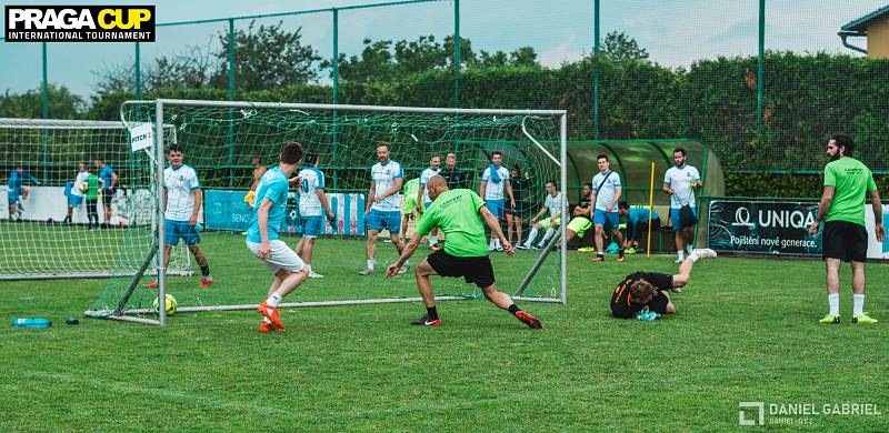
[[[250,224],[250,207],[243,201],[247,191],[207,190],[204,193],[204,224],[213,230],[246,231]],[[324,234],[344,236],[364,235],[364,197],[362,194],[328,193],[334,221],[326,221]],[[290,193],[287,215],[281,232],[302,233],[298,197]]]

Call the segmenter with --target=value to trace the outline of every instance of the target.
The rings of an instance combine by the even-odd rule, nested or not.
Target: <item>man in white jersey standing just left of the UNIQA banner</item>
[[[686,164],[686,150],[678,148],[673,150],[673,162],[663,174],[663,192],[670,194],[670,219],[673,221],[673,232],[676,233],[677,263],[682,263],[686,259],[686,249],[691,254],[692,240],[695,239],[695,224],[683,226],[680,218],[680,210],[688,205],[697,216],[695,205],[695,189],[701,188],[701,177],[698,169]]]

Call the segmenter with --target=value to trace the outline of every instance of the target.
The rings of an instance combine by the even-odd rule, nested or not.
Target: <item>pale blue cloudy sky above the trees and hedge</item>
[[[0,4],[156,4],[157,22],[179,22],[240,16],[379,3],[379,0],[0,0]],[[756,56],[758,0],[601,0],[601,37],[622,31],[645,48],[650,59],[667,67],[689,67],[718,56]],[[859,56],[843,48],[837,31],[887,1],[873,0],[766,0],[766,49],[795,52],[830,52]],[[0,22],[6,26],[6,17]],[[301,28],[303,43],[322,57],[332,53],[332,13],[320,12],[257,20],[256,24],[283,22]],[[249,20],[236,21],[247,28]],[[186,56],[196,49],[218,47],[227,23],[163,27],[157,42],[141,44],[146,67],[159,56]],[[362,40],[416,40],[433,34],[442,40],[453,31],[453,2],[434,1],[399,7],[341,11],[339,50],[361,51]],[[530,46],[546,66],[558,67],[592,51],[592,0],[461,0],[460,34],[472,48],[511,51]],[[862,38],[852,43],[866,47]],[[132,43],[50,43],[48,77],[74,93],[94,91],[96,74],[133,63]],[[40,43],[0,42],[0,92],[23,92],[41,81]]]

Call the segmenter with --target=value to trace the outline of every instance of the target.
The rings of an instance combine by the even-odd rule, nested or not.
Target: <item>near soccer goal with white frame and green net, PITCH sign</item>
[[[146,192],[144,221],[163,220],[162,173],[167,150],[172,143],[182,149],[183,163],[193,168],[203,195],[200,245],[208,260],[213,284],[199,286],[199,278],[169,275],[163,266],[152,271],[147,263],[162,263],[164,224],[143,225],[127,231],[127,244],[140,251],[143,261],[119,262],[117,273],[133,276],[111,279],[87,315],[150,324],[168,321],[166,309],[153,308],[156,300],[172,294],[177,314],[222,310],[254,309],[267,296],[272,275],[244,244],[250,205],[244,197],[252,181],[254,162],[277,167],[281,148],[299,142],[318,157],[323,173],[323,191],[334,213],[324,223],[313,246],[312,271],[323,278],[307,280],[288,296],[284,308],[350,304],[379,304],[420,301],[413,272],[384,278],[386,266],[397,259],[396,248],[380,233],[376,242],[377,271],[359,275],[366,264],[364,209],[371,184],[370,169],[378,162],[376,148],[390,145],[390,159],[401,164],[403,181],[420,175],[430,158],[453,154],[459,188],[479,191],[479,177],[499,151],[503,167],[518,168],[528,187],[521,192],[528,214],[537,211],[546,194],[546,183],[555,181],[567,194],[567,113],[563,110],[476,110],[307,103],[156,100],[128,101],[121,107],[128,128],[153,124],[150,149],[129,157],[128,179],[132,188]],[[163,125],[159,128],[158,125]],[[174,132],[174,133],[173,133]],[[149,154],[151,157],[149,157]],[[302,220],[296,187],[291,188],[288,214],[280,228],[282,240],[297,249]],[[416,194],[416,192],[412,192]],[[399,197],[404,201],[404,194]],[[403,203],[402,203],[403,204]],[[416,220],[408,214],[407,236]],[[567,220],[567,211],[562,214]],[[562,231],[563,229],[562,224]],[[502,223],[506,232],[506,221]],[[563,234],[563,233],[562,233]],[[563,235],[542,251],[518,251],[516,256],[491,253],[498,290],[521,301],[565,303],[566,245]],[[447,244],[447,238],[443,242]],[[556,251],[557,242],[562,243]],[[416,265],[429,253],[421,245],[410,260]],[[148,259],[150,256],[150,259]],[[147,283],[157,281],[156,289]],[[483,295],[462,279],[433,281],[439,300],[476,300]],[[152,284],[154,285],[154,284]]]

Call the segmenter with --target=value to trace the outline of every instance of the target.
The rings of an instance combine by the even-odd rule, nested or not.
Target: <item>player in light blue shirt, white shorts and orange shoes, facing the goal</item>
[[[309,275],[302,259],[278,236],[287,213],[288,179],[302,160],[302,145],[287,143],[281,150],[278,167],[266,171],[257,185],[257,205],[250,213],[247,249],[274,274],[266,302],[257,310],[263,315],[259,332],[283,331],[278,311],[281,300],[296,290]],[[303,181],[304,182],[304,181]]]

